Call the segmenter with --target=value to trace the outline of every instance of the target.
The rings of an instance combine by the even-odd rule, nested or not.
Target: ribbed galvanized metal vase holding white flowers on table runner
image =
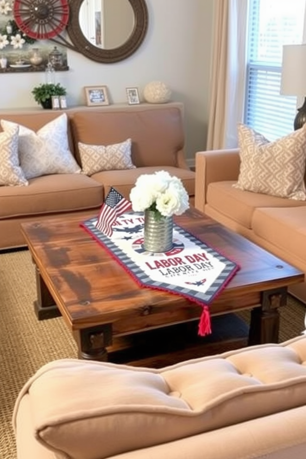
[[[147,252],[167,252],[173,246],[173,217],[145,210],[144,247]]]

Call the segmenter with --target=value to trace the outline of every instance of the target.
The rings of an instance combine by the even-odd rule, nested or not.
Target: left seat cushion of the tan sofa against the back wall
[[[0,187],[0,219],[92,209],[104,200],[103,186],[83,174],[44,175],[20,189]]]

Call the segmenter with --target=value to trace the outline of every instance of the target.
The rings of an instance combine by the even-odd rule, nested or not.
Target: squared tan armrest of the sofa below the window
[[[204,212],[207,187],[212,182],[238,180],[239,149],[198,151],[195,154],[195,207]]]

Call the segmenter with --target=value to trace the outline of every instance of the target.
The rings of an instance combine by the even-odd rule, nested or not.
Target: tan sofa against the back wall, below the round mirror
[[[35,132],[58,117],[57,110],[2,111],[0,119]],[[0,186],[0,249],[23,246],[20,224],[88,212],[97,213],[111,186],[126,198],[140,174],[167,170],[182,179],[194,203],[195,173],[184,158],[183,104],[80,107],[67,110],[69,146],[81,166],[78,142],[109,145],[132,139],[136,168],[93,174],[53,174],[29,179],[28,186]]]

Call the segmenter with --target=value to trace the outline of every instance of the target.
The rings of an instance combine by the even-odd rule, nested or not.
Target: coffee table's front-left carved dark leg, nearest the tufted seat
[[[78,358],[107,362],[107,346],[112,343],[111,324],[97,325],[73,331],[78,345]]]

